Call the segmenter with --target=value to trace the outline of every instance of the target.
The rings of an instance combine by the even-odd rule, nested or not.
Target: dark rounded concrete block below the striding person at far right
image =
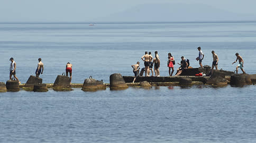
[[[232,86],[243,86],[252,84],[250,75],[248,74],[237,74],[232,75],[230,78],[230,84]]]

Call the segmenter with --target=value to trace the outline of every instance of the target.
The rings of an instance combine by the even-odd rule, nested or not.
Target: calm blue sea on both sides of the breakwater
[[[94,24],[93,26],[89,26]],[[72,83],[92,76],[133,76],[144,52],[158,51],[160,76],[169,76],[171,53],[191,67],[234,71],[235,53],[256,74],[256,22],[0,23],[0,81],[9,79],[10,57],[26,83],[42,58],[43,83],[72,67]],[[175,70],[178,68],[175,65]],[[239,69],[239,73],[242,71]],[[244,87],[130,87],[84,92],[0,93],[0,142],[256,142],[255,85]]]

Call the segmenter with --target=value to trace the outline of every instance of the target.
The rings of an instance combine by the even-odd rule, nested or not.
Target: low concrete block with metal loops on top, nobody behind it
[[[106,85],[103,81],[96,80],[90,76],[89,78],[85,79],[83,91],[97,91],[97,90],[106,90]]]

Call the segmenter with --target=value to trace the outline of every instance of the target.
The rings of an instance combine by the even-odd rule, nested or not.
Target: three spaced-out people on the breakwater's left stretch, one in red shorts
[[[20,80],[16,76],[16,62],[14,61],[13,57],[10,58],[11,65],[10,65],[10,80],[12,79],[12,76],[19,81],[19,84],[21,84]],[[72,64],[67,63],[66,64],[66,76],[68,76],[68,73],[70,75],[70,84],[72,79]],[[38,59],[38,67],[35,70],[35,76],[39,78],[39,75],[43,74],[43,63],[42,59]]]

